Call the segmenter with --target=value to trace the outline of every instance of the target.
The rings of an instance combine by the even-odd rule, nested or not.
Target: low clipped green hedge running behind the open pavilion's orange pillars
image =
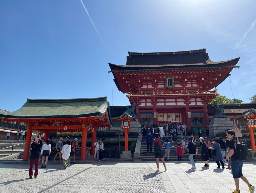
[[[82,136],[82,132],[59,132],[58,134],[58,137],[66,137],[66,136],[69,136],[69,137],[81,137]],[[87,133],[87,136],[88,137],[91,137],[92,136],[92,133],[91,132],[88,132]],[[118,135],[116,135],[116,132],[113,132],[113,131],[108,131],[108,132],[104,132],[104,131],[97,131],[96,132],[96,137],[116,137]],[[124,132],[123,132],[123,135],[124,136]],[[128,136],[139,136],[139,134],[137,132],[133,132],[133,131],[130,131]]]

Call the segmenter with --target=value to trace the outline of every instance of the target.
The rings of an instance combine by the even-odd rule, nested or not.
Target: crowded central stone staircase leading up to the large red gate
[[[185,138],[187,139],[188,137],[190,137],[190,136],[187,136]],[[204,136],[204,137],[206,137],[206,136]],[[163,142],[165,142],[165,140],[167,138],[169,139],[169,136],[164,136],[163,137],[163,139],[164,139]],[[177,137],[177,138],[178,138],[177,142],[180,143],[180,146],[182,147],[181,137]],[[207,138],[211,142],[211,140],[215,137],[208,137],[207,136]],[[172,136],[169,139],[169,142],[171,143],[171,146],[174,145],[174,143],[172,142]],[[196,136],[196,149],[198,149],[198,154],[195,155],[195,161],[202,161],[202,159],[201,159],[201,148],[200,148],[200,143],[199,143],[198,136]],[[164,157],[165,157],[164,148],[162,149],[162,151],[163,151],[163,154],[164,154]],[[149,152],[150,152],[150,149],[149,149]],[[189,161],[188,156],[189,156],[189,154],[183,154],[182,155],[182,161]],[[142,159],[142,161],[155,161],[156,160],[155,157],[154,157],[154,146],[153,146],[153,144],[152,144],[152,154],[151,153],[147,154],[147,143],[143,141],[143,138],[141,140],[140,159]],[[178,161],[176,147],[175,148],[171,147],[169,161]]]

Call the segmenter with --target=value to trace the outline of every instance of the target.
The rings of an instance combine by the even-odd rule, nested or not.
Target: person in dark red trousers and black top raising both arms
[[[28,172],[30,179],[33,176],[34,162],[36,162],[35,178],[37,178],[38,167],[39,167],[40,148],[42,147],[42,145],[43,145],[43,143],[41,141],[41,137],[40,137],[40,135],[38,135],[38,138],[35,138],[34,142],[31,144],[30,167],[29,167],[29,172]]]

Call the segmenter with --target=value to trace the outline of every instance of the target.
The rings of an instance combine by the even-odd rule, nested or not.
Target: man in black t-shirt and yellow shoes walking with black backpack
[[[237,141],[234,140],[236,133],[234,131],[227,132],[227,138],[229,140],[229,150],[230,153],[227,155],[227,159],[231,159],[231,171],[236,184],[236,190],[232,191],[233,193],[240,193],[239,190],[239,178],[241,178],[249,187],[249,192],[254,192],[254,186],[252,186],[248,179],[242,174],[243,160],[237,159]]]

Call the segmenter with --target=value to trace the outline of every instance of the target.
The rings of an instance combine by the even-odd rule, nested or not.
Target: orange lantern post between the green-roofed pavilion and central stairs
[[[122,121],[122,126],[124,130],[124,138],[125,138],[125,151],[128,151],[128,131],[131,130],[130,128],[130,121],[135,121],[135,117],[129,115],[126,111],[117,118],[118,120]]]

